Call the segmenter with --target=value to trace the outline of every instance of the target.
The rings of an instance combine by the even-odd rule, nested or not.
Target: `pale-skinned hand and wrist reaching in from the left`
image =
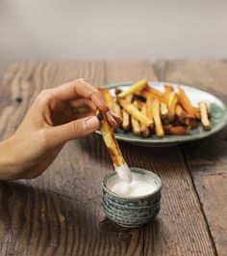
[[[0,142],[0,180],[33,179],[54,161],[68,140],[99,128],[99,108],[116,128],[121,119],[102,94],[84,79],[47,89],[38,95],[14,134]]]

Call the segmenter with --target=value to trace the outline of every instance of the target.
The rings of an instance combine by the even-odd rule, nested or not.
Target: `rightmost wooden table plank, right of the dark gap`
[[[161,63],[158,64],[162,65]],[[227,62],[171,61],[163,65],[167,81],[204,89],[227,103]],[[182,149],[218,255],[227,252],[227,128]]]

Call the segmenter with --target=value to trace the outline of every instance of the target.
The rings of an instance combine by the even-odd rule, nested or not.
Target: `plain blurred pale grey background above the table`
[[[0,62],[225,58],[226,25],[225,0],[0,0]]]

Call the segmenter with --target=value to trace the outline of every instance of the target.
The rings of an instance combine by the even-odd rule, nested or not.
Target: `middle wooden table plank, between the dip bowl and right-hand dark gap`
[[[157,79],[152,65],[144,62],[140,65],[147,73],[144,77]],[[125,81],[135,80],[139,67],[132,66],[108,63],[107,73],[109,69],[112,71],[110,76],[114,81],[119,73],[124,74]],[[164,183],[162,211],[153,223],[144,227],[144,255],[214,255],[213,243],[180,147],[146,149],[121,144],[121,148],[129,165],[154,171]]]

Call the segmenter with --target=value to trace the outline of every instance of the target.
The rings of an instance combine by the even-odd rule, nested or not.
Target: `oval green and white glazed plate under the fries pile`
[[[117,84],[110,84],[104,86],[104,88],[109,89],[111,94],[114,96],[114,89],[119,88],[123,91],[130,87],[133,82],[123,82]],[[150,81],[149,85],[158,89],[160,92],[164,92],[164,84],[170,84],[173,86],[176,92],[178,92],[178,84],[167,83],[167,82],[153,82]],[[177,144],[182,144],[184,142],[202,139],[208,136],[213,135],[220,129],[224,128],[227,125],[227,108],[225,104],[215,98],[213,95],[201,91],[196,88],[192,88],[186,85],[181,85],[185,90],[189,100],[194,106],[198,106],[198,102],[204,100],[208,103],[211,108],[211,130],[204,130],[202,126],[198,128],[191,129],[187,135],[164,135],[164,138],[158,138],[156,135],[152,135],[148,138],[142,138],[133,135],[132,132],[124,132],[123,130],[117,129],[115,131],[115,137],[119,141],[125,141],[127,143],[144,146],[144,147],[159,147],[159,146],[173,146]],[[100,134],[100,132],[97,132]]]

